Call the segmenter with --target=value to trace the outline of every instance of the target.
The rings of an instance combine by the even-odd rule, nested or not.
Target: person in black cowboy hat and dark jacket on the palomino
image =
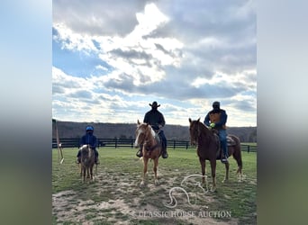
[[[149,123],[151,125],[152,129],[155,131],[159,131],[159,137],[162,140],[162,157],[167,158],[167,139],[165,137],[164,131],[161,130],[165,126],[165,118],[164,115],[158,111],[158,108],[160,104],[157,102],[149,103],[149,106],[152,107],[152,109],[149,112],[146,112],[144,115],[143,122]],[[142,157],[142,147],[138,150],[136,153],[137,157]]]

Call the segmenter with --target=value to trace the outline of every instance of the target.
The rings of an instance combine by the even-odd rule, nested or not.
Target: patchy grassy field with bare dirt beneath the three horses
[[[152,162],[147,183],[140,187],[142,161],[135,148],[99,148],[100,162],[95,180],[82,183],[75,163],[77,148],[64,148],[59,164],[52,150],[53,224],[257,224],[257,154],[242,152],[243,180],[235,174],[230,159],[230,179],[222,183],[225,169],[217,162],[217,190],[204,193],[196,184],[181,186],[187,175],[200,175],[195,150],[170,149],[168,159],[159,159],[159,185],[154,185]],[[210,163],[206,161],[210,176]],[[211,184],[211,177],[207,182]],[[183,187],[190,197],[177,193],[177,207],[168,208],[169,192]],[[206,190],[206,185],[203,186]]]

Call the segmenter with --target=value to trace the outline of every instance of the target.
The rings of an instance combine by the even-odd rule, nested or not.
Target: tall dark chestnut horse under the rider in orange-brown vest
[[[211,163],[213,186],[211,191],[216,189],[216,160],[221,159],[221,155],[217,156],[217,150],[220,148],[219,139],[216,138],[216,134],[213,130],[209,130],[204,123],[200,121],[200,118],[197,121],[192,121],[189,118],[189,132],[190,132],[190,141],[192,145],[197,145],[197,155],[201,164],[202,175],[205,175],[205,160],[209,160]],[[240,154],[240,139],[234,135],[228,135],[228,139],[231,139],[232,144],[228,143],[228,153],[229,156],[237,161],[238,170],[237,174],[241,178],[241,154]],[[227,181],[229,178],[229,162],[225,163],[226,174],[224,181]],[[203,177],[203,183],[205,179]]]

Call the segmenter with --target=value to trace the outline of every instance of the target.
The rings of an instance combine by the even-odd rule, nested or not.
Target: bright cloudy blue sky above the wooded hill
[[[256,1],[53,0],[52,117],[188,126],[219,101],[257,126]]]

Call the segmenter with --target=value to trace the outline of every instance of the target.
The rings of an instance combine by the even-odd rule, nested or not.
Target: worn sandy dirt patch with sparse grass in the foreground
[[[142,224],[143,220],[158,224],[238,224],[228,211],[211,211],[208,205],[214,202],[214,193],[204,194],[205,188],[195,180],[190,182],[192,188],[175,186],[175,178],[163,178],[164,174],[159,173],[159,177],[160,184],[154,185],[149,174],[146,185],[140,187],[140,174],[101,172],[94,181],[83,184],[86,190],[81,193],[68,190],[52,194],[54,224]]]

